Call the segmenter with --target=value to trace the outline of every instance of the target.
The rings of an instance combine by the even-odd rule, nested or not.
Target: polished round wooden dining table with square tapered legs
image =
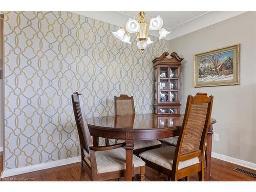
[[[99,137],[125,140],[125,180],[132,181],[134,140],[154,140],[178,136],[184,115],[113,115],[87,119],[93,145],[98,146]],[[207,134],[207,181],[210,178],[210,159],[213,126],[211,118]]]

